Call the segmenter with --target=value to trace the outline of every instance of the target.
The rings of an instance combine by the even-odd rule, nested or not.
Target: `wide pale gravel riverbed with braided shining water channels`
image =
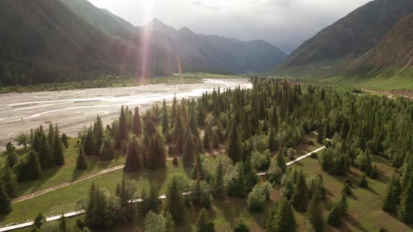
[[[0,95],[0,150],[19,133],[29,133],[43,124],[58,124],[62,133],[77,136],[78,131],[89,126],[96,115],[110,124],[118,117],[120,106],[131,110],[139,106],[145,110],[153,103],[177,99],[197,98],[214,88],[251,88],[247,79],[204,79],[198,84],[140,85],[77,89],[59,92],[11,93]]]

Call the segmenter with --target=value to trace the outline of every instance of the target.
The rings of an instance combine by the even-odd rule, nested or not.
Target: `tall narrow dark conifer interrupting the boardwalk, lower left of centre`
[[[167,190],[167,212],[171,214],[176,224],[183,222],[185,216],[185,205],[183,205],[183,197],[178,184],[178,177],[173,175]]]

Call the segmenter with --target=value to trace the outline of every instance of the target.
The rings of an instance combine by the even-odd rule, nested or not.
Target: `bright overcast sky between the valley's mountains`
[[[89,0],[135,26],[157,17],[176,29],[243,41],[264,39],[285,52],[370,0]]]

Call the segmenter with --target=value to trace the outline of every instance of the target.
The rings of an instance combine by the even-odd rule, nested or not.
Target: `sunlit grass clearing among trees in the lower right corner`
[[[357,186],[358,178],[362,173],[356,168],[351,168],[348,177],[339,177],[328,175],[321,170],[317,159],[303,159],[293,166],[302,168],[304,173],[309,176],[321,174],[323,176],[325,189],[327,189],[327,201],[325,201],[325,218],[328,216],[328,210],[336,203],[343,187],[343,182],[349,178],[353,182],[353,195],[348,198],[349,211],[343,217],[342,227],[333,227],[326,224],[325,231],[379,231],[381,227],[390,231],[412,231],[412,226],[407,226],[398,221],[395,215],[390,215],[381,210],[382,196],[386,192],[387,182],[390,179],[394,168],[388,164],[388,161],[381,157],[374,157],[373,165],[377,164],[379,169],[379,178],[377,180],[368,179],[369,187],[363,189]],[[297,222],[299,231],[305,229],[305,215],[297,213]]]

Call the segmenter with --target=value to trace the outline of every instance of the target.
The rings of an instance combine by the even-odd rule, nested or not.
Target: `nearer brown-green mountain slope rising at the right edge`
[[[344,73],[360,78],[412,78],[413,13],[395,24],[380,43],[363,57],[349,62]]]

